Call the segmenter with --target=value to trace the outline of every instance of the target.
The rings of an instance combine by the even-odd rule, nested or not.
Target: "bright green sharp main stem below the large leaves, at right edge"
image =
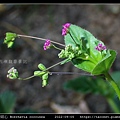
[[[111,84],[120,100],[120,89],[108,72],[104,73],[106,80]]]

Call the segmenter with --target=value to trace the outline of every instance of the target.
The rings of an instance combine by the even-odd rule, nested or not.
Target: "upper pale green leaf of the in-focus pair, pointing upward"
[[[101,58],[100,52],[96,51],[95,47],[98,43],[102,43],[104,45],[102,41],[99,41],[89,31],[79,26],[71,24],[69,29],[70,34],[67,34],[64,37],[65,45],[72,45],[73,47],[76,47],[77,43],[77,45],[80,46],[81,49],[86,50],[87,53],[89,53],[96,60],[99,57]]]

